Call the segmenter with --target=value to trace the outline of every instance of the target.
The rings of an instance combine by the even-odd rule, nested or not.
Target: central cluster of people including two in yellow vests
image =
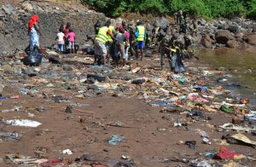
[[[125,21],[122,21],[122,24],[114,28],[111,20],[107,20],[103,26],[97,21],[95,30],[95,63],[106,65],[109,57],[112,57],[113,64],[118,64],[119,60],[121,60],[122,65],[125,66],[129,59],[129,50],[131,55],[136,55],[137,59],[140,57],[140,60],[143,60],[146,32],[141,20],[137,20],[135,32],[129,30]],[[99,62],[99,60],[102,60],[102,62]]]

